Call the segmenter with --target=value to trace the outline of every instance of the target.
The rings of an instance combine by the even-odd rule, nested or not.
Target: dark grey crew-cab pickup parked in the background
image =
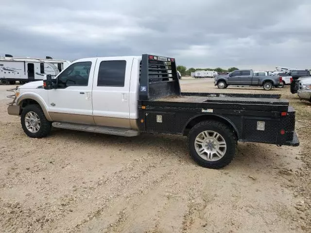
[[[259,73],[257,73],[259,74]],[[215,77],[215,86],[219,89],[235,86],[262,86],[264,90],[271,90],[282,83],[282,77],[254,75],[253,70],[235,70],[226,75]]]

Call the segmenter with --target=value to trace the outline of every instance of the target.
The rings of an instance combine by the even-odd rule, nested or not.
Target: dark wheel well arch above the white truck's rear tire
[[[190,129],[193,126],[195,126],[197,123],[199,123],[201,121],[204,121],[204,120],[217,120],[217,121],[225,124],[226,126],[228,126],[233,131],[233,133],[235,134],[237,140],[239,139],[239,132],[238,132],[237,128],[234,126],[234,124],[230,120],[228,120],[228,119],[226,119],[225,117],[222,117],[222,116],[211,115],[211,114],[196,116],[193,119],[191,119],[188,122],[188,124],[185,127],[185,129],[184,129],[183,135],[187,136],[189,131],[190,131]]]

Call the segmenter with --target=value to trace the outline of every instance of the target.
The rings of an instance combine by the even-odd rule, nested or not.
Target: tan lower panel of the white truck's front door
[[[89,115],[79,115],[79,114],[69,114],[69,113],[53,113],[49,112],[52,121],[70,122],[86,125],[95,125],[93,116]]]

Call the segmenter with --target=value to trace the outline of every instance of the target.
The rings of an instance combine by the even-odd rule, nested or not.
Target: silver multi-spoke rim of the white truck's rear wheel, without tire
[[[215,131],[203,131],[194,141],[198,155],[207,161],[217,161],[224,157],[227,150],[225,139]]]

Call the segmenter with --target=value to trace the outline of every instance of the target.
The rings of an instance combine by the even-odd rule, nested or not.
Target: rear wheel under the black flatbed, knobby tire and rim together
[[[203,143],[198,144],[201,141]],[[188,149],[191,157],[200,166],[207,168],[218,169],[228,165],[235,156],[236,146],[237,139],[232,130],[216,120],[196,124],[188,135]]]

